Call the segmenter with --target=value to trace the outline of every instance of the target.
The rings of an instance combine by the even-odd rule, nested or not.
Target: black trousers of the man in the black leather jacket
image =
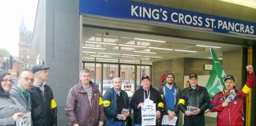
[[[184,126],[205,126],[205,115],[185,115]]]

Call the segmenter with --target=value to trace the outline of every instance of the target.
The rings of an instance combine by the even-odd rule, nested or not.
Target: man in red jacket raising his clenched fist
[[[254,88],[254,69],[247,65],[247,83],[243,89],[235,90],[235,78],[232,75],[224,78],[226,89],[213,97],[209,105],[211,112],[217,112],[217,126],[236,125],[243,126],[243,100],[247,98],[251,89]]]

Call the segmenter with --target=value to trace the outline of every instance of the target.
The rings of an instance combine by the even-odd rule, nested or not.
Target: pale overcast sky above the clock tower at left
[[[22,15],[28,31],[33,31],[37,0],[0,1],[0,48],[18,57],[19,27]]]

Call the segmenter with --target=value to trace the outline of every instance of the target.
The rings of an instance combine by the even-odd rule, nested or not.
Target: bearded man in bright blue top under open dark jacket
[[[179,98],[181,90],[175,83],[175,75],[171,72],[165,76],[166,83],[160,85],[159,92],[164,100],[163,116],[168,116],[169,119],[179,117]],[[179,125],[179,120],[176,120],[176,126]]]

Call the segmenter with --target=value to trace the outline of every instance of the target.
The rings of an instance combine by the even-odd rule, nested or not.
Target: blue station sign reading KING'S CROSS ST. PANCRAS
[[[183,9],[123,0],[80,0],[80,13],[121,20],[142,20],[178,28],[213,31],[224,35],[256,39],[256,24],[244,20],[195,13]]]

